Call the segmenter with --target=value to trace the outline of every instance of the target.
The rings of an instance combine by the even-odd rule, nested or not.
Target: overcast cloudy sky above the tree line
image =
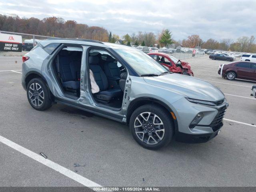
[[[256,0],[1,0],[0,14],[56,16],[120,36],[170,29],[175,40],[256,36]]]

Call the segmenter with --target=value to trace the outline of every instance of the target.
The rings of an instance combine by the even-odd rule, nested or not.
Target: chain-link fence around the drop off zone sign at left
[[[3,56],[23,56],[34,46],[36,46],[40,41],[52,38],[49,36],[41,36],[41,35],[33,35],[33,34],[24,34],[24,33],[15,33],[15,32],[7,32],[7,31],[0,31],[1,34],[9,34],[11,35],[18,35],[22,36],[22,52],[12,52],[12,51],[0,51],[0,57]]]

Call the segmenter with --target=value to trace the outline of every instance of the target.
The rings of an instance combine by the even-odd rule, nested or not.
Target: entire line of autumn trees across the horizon
[[[6,16],[0,14],[0,30],[20,32],[34,35],[43,35],[61,38],[84,38],[103,42],[119,41],[125,45],[141,45],[176,48],[178,46],[188,48],[218,49],[235,52],[256,52],[254,36],[242,36],[237,40],[212,38],[203,41],[199,35],[193,34],[184,40],[174,40],[172,32],[163,29],[162,32],[142,32],[118,36],[98,26],[78,24],[74,20],[65,21],[63,18],[48,17],[42,20],[38,18],[20,18],[19,16]]]

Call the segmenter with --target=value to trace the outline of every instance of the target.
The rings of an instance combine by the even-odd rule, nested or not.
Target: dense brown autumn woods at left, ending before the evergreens
[[[98,26],[78,24],[74,20],[48,17],[20,18],[0,14],[0,30],[61,38],[84,38],[108,41],[108,31]]]

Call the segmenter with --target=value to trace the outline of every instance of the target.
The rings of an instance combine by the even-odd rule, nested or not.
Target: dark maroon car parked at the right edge
[[[220,64],[218,74],[228,80],[238,78],[256,81],[256,63],[238,61],[230,64]]]

